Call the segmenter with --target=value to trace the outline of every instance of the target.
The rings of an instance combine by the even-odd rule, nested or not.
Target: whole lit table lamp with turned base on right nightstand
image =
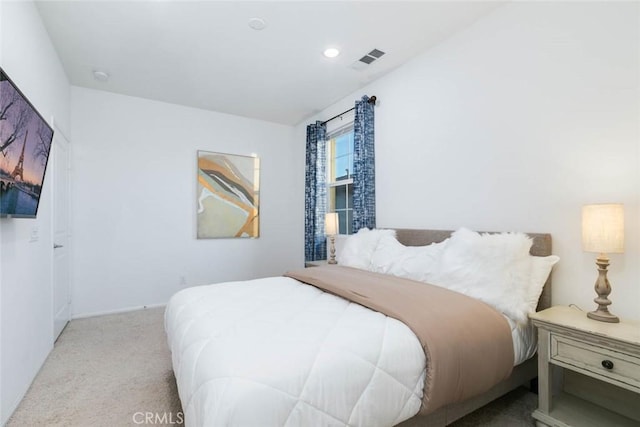
[[[607,254],[624,252],[624,207],[622,204],[596,204],[582,207],[582,249],[598,253],[598,280],[595,298],[598,308],[587,317],[601,322],[618,323],[620,319],[609,312],[608,295],[611,285],[607,279],[609,258]]]

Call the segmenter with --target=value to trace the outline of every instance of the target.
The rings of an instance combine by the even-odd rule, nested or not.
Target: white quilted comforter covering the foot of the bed
[[[187,426],[390,426],[420,409],[413,332],[290,278],[185,289],[165,326]]]

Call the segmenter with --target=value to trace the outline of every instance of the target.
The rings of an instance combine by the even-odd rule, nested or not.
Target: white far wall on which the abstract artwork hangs
[[[250,102],[250,100],[247,100]],[[290,126],[72,88],[74,316],[302,267],[304,141]],[[257,154],[260,238],[197,240],[196,151]]]

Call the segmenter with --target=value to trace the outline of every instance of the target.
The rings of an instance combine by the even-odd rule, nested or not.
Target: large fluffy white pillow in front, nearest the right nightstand
[[[519,323],[527,321],[532,240],[523,233],[455,231],[430,282],[486,302]]]

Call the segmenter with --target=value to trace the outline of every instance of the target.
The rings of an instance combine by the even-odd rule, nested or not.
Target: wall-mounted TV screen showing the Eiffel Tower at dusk
[[[0,217],[35,218],[53,129],[0,68]]]

